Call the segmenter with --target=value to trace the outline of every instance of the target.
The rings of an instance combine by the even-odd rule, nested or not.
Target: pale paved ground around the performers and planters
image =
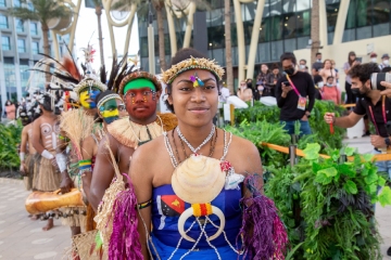
[[[357,147],[360,153],[370,153],[369,139],[345,140],[349,146]],[[21,181],[0,178],[0,259],[65,259],[64,252],[71,246],[71,231],[59,220],[54,227],[43,232],[43,221],[27,218],[24,200],[29,194]],[[377,205],[376,218],[383,238],[381,251],[383,259],[391,246],[391,207]]]

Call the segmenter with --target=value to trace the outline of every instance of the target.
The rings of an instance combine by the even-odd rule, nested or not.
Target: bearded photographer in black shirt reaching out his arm
[[[325,121],[341,128],[355,126],[364,115],[375,126],[376,134],[370,135],[374,145],[374,154],[386,153],[391,146],[390,136],[387,131],[387,122],[391,121],[391,100],[382,95],[370,84],[370,75],[379,73],[376,63],[358,64],[349,72],[352,77],[352,93],[358,96],[354,110],[349,116],[337,118],[335,113],[326,113]],[[377,161],[379,171],[387,172],[391,178],[391,161]]]

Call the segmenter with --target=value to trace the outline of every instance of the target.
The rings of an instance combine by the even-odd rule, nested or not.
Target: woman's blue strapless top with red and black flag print
[[[242,211],[239,205],[241,198],[241,190],[225,190],[218,194],[218,196],[211,203],[212,206],[219,208],[225,216],[226,224],[224,231],[227,235],[227,239],[234,247],[237,247],[237,236],[241,227]],[[178,196],[175,195],[172,185],[163,185],[153,188],[152,198],[152,235],[159,239],[162,244],[176,248],[179,239],[181,238],[178,232],[178,219],[179,216],[189,207],[190,204],[185,203]],[[219,226],[219,219],[215,214],[209,216],[216,226]],[[200,218],[201,223],[204,218]],[[187,232],[187,235],[197,240],[201,234],[201,229],[198,222],[193,223],[195,217],[190,217],[185,223],[185,231],[191,225],[191,230]],[[205,226],[207,236],[212,236],[217,232],[217,227],[207,223]],[[210,242],[215,247],[227,247],[228,243],[225,239],[224,233],[217,238]],[[239,242],[239,247],[241,242]],[[190,249],[194,243],[181,239],[178,248]],[[212,249],[207,244],[205,235],[202,235],[200,242],[197,245],[197,249]],[[213,250],[213,249],[212,249]]]

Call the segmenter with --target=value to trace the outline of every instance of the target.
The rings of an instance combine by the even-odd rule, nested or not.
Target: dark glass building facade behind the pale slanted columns
[[[225,53],[225,28],[224,28],[224,0],[207,0],[211,6],[206,11],[207,29],[207,54],[215,58],[220,65],[226,64]],[[337,25],[340,0],[325,0],[327,14],[327,42],[321,44],[332,44],[335,29]],[[257,2],[241,3],[241,18],[244,28],[245,56],[249,55],[251,35],[254,26]],[[343,42],[360,39],[390,35],[391,0],[351,0],[343,34]],[[311,10],[312,0],[265,0],[262,24],[257,41],[255,56],[254,76],[258,72],[260,64],[273,64],[279,62],[279,56],[283,52],[306,49],[311,38]],[[182,46],[186,22],[175,18],[175,29],[178,49]],[[141,65],[144,68],[148,63],[148,38],[147,20],[139,17],[139,36]],[[159,60],[159,41],[156,21],[153,24],[155,30],[155,55]],[[165,55],[167,62],[171,57],[168,27],[164,22],[165,31]],[[192,35],[192,38],[194,36]],[[197,36],[195,36],[197,37]],[[192,40],[190,41],[192,46]],[[238,66],[238,38],[234,4],[231,2],[231,46],[232,64]],[[159,64],[156,72],[160,72]]]

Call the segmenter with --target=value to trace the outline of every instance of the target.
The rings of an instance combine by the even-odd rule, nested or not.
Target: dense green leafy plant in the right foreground
[[[293,168],[269,169],[265,185],[288,229],[297,259],[381,259],[374,204],[391,204],[386,180],[370,161],[371,155],[354,148],[330,151],[319,157],[320,145],[307,144],[305,158]],[[353,156],[342,161],[341,153]]]

